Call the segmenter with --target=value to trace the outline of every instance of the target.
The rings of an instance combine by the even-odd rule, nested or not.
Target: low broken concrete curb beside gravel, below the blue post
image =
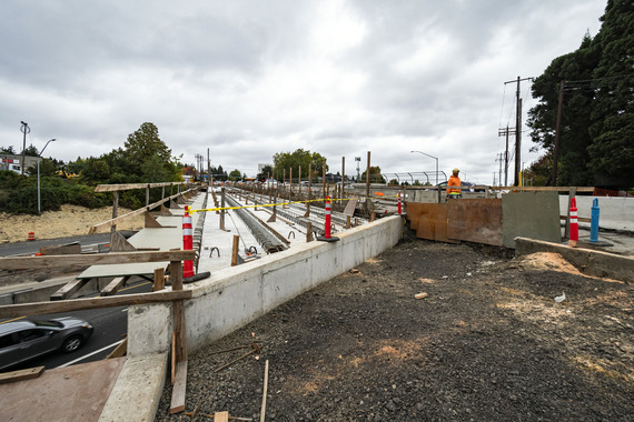
[[[515,238],[515,254],[526,255],[536,252],[554,252],[576,267],[582,273],[634,282],[634,258],[584,248],[571,248],[542,240]]]

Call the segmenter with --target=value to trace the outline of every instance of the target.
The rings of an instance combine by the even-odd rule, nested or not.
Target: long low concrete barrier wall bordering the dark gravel
[[[338,242],[310,242],[246,265],[216,272],[186,285],[188,351],[196,351],[244,326],[324,281],[394,247],[403,220],[389,217],[336,235]],[[128,312],[128,354],[160,353],[171,342],[171,307],[147,304]]]

